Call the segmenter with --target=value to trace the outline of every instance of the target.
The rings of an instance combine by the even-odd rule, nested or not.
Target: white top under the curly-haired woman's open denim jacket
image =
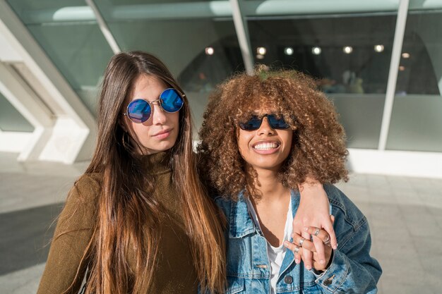
[[[258,221],[258,216],[256,215],[255,209],[253,208],[253,204],[251,204],[251,201],[249,199],[247,200],[247,207],[249,207],[249,212],[256,226],[258,226],[258,228],[261,229],[260,223]],[[271,267],[270,286],[272,287],[271,288],[272,294],[275,294],[276,292],[277,278],[280,274],[282,261],[284,260],[285,257],[285,250],[287,250],[287,248],[284,247],[283,243],[285,240],[290,240],[290,238],[292,238],[292,231],[293,231],[292,223],[293,223],[292,197],[290,197],[289,207],[287,211],[287,220],[285,221],[284,238],[282,239],[280,247],[273,247],[267,241],[267,255]],[[263,230],[261,229],[261,231]]]

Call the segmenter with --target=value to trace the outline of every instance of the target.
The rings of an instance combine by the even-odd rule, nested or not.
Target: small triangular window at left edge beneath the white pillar
[[[34,127],[0,93],[0,129],[7,132],[33,132]]]

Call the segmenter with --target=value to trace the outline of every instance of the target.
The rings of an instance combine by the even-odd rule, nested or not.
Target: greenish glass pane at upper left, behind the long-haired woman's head
[[[97,85],[113,53],[82,0],[10,0],[49,59],[95,114]]]

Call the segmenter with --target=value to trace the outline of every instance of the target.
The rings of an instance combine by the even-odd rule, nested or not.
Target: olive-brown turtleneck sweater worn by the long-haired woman
[[[169,152],[142,158],[146,173],[155,180],[155,197],[166,209],[167,217],[160,221],[160,248],[150,289],[142,293],[197,293],[198,281],[193,266],[189,238],[184,230],[181,203],[172,182]],[[49,257],[37,294],[60,294],[71,285],[80,259],[92,235],[92,223],[96,219],[97,196],[100,192],[100,174],[84,175],[69,192],[66,204],[59,216]],[[133,252],[129,252],[131,267]],[[80,268],[84,275],[85,268]],[[74,287],[78,293],[80,285]]]

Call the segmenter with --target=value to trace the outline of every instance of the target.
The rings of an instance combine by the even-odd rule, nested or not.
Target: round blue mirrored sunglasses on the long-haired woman
[[[127,106],[126,113],[131,121],[134,123],[144,123],[150,118],[152,114],[153,102],[159,102],[161,108],[169,113],[179,111],[184,104],[184,94],[179,94],[175,89],[169,88],[160,94],[160,98],[148,102],[145,99],[135,99]]]

